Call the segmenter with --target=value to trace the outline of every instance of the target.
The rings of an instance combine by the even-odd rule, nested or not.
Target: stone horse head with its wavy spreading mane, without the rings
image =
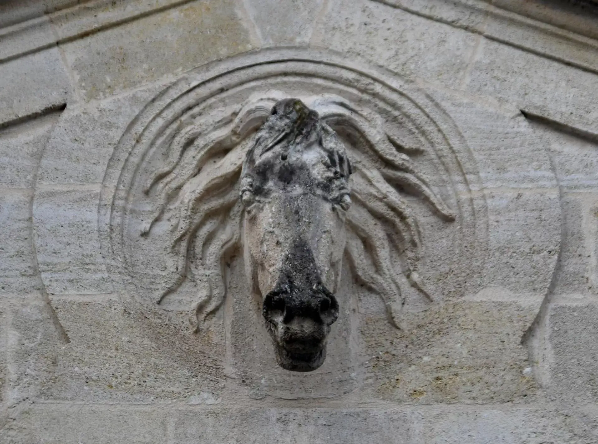
[[[173,136],[166,166],[145,185],[158,205],[142,229],[169,222],[172,278],[157,302],[192,280],[198,330],[224,301],[226,264],[242,251],[277,362],[295,371],[324,362],[343,258],[397,327],[407,287],[431,299],[402,192],[454,218],[375,114],[336,96],[305,102],[268,91],[208,130]]]

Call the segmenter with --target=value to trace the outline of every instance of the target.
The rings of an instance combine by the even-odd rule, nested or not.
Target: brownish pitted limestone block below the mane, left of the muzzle
[[[77,402],[221,399],[222,330],[194,334],[187,313],[126,304],[115,295],[50,296],[69,336],[41,396]],[[196,397],[196,398],[194,398]]]

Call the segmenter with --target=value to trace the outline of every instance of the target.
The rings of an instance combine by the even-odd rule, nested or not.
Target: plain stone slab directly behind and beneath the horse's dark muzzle
[[[355,344],[358,338],[352,328],[356,305],[352,301],[352,286],[349,282],[347,273],[337,293],[340,313],[328,336],[327,359],[321,368],[308,373],[289,372],[276,364],[260,307],[251,298],[235,298],[230,315],[231,365],[249,397],[334,398],[359,387],[362,370]],[[249,287],[244,282],[231,282],[231,292],[248,295]],[[384,322],[388,323],[386,320]],[[256,356],[261,359],[256,360]]]

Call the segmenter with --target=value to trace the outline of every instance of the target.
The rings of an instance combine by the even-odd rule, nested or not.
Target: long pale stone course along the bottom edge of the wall
[[[102,427],[103,424],[113,427]],[[549,409],[222,408],[42,403],[23,414],[21,436],[48,443],[463,443],[591,441]],[[115,431],[120,431],[116,434]],[[14,436],[14,435],[13,435]],[[548,441],[547,441],[548,440]]]

